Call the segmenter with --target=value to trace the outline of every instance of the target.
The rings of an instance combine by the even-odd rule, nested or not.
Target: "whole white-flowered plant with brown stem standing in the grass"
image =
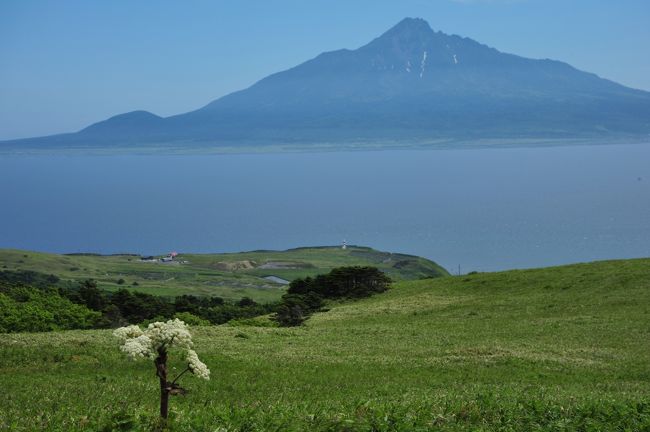
[[[113,335],[120,341],[120,349],[133,359],[153,359],[156,376],[160,380],[160,416],[167,418],[169,412],[169,395],[185,392],[176,382],[186,372],[199,378],[210,379],[210,370],[199,360],[192,349],[192,335],[187,325],[179,320],[155,322],[143,331],[137,325],[118,328]],[[167,379],[167,356],[169,350],[178,347],[185,351],[187,367],[172,381]]]

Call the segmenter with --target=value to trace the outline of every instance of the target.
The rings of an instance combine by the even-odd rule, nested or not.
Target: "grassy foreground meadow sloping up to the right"
[[[650,259],[403,281],[303,327],[194,334],[212,379],[184,379],[170,430],[650,430]],[[0,377],[0,429],[155,423],[153,366],[110,331],[0,335]]]

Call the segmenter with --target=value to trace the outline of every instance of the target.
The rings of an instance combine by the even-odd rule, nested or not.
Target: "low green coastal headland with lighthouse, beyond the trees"
[[[264,277],[285,280],[327,273],[334,267],[372,265],[395,280],[447,275],[436,263],[411,255],[366,247],[298,248],[232,254],[180,254],[177,263],[141,262],[133,255],[58,255],[0,249],[0,270],[33,270],[65,280],[95,279],[100,288],[129,288],[147,294],[219,296],[228,300],[250,297],[275,301],[283,285]],[[186,264],[179,264],[187,262]],[[123,279],[123,284],[117,282]],[[134,282],[137,285],[134,285]]]

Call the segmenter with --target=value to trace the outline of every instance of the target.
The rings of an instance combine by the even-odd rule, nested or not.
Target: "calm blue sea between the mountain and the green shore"
[[[650,145],[2,156],[0,247],[349,244],[462,272],[650,256]]]

